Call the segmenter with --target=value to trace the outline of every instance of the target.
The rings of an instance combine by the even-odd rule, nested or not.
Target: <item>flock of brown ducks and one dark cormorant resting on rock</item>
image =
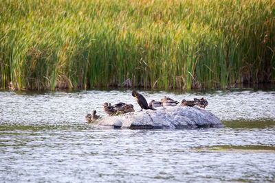
[[[160,101],[152,100],[150,103],[147,103],[145,97],[141,95],[140,93],[137,93],[135,90],[132,91],[132,96],[136,98],[137,103],[140,105],[140,108],[142,110],[155,110],[157,107],[165,107],[165,106],[177,106],[179,101],[175,101],[173,99],[170,99],[169,97],[164,96]],[[181,100],[180,106],[199,106],[200,108],[203,108],[203,110],[208,106],[208,101],[204,98],[201,99],[194,99],[191,101],[186,101],[185,99]],[[140,110],[140,111],[142,111]],[[125,114],[127,112],[135,112],[133,109],[132,104],[126,104],[124,102],[116,103],[115,105],[111,105],[111,103],[104,103],[103,104],[103,111],[109,114],[109,116],[116,116],[120,114]],[[91,123],[96,121],[96,119],[100,119],[98,115],[96,115],[96,110],[93,110],[91,114],[87,114],[86,121],[87,123]]]

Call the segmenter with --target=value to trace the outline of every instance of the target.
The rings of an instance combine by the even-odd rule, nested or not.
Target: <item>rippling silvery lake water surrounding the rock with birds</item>
[[[275,91],[139,91],[147,101],[205,97],[223,128],[86,125],[131,90],[0,91],[0,182],[274,182]],[[218,149],[218,150],[216,150]],[[223,150],[225,149],[225,150]]]

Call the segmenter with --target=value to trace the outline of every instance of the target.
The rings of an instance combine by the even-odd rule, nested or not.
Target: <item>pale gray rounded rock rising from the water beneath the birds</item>
[[[223,123],[208,110],[188,106],[168,106],[155,109],[105,117],[98,119],[94,124],[131,129],[224,127]]]

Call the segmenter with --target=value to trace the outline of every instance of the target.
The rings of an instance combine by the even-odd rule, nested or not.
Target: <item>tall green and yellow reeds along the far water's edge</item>
[[[275,83],[275,1],[35,1],[0,6],[0,88]]]

